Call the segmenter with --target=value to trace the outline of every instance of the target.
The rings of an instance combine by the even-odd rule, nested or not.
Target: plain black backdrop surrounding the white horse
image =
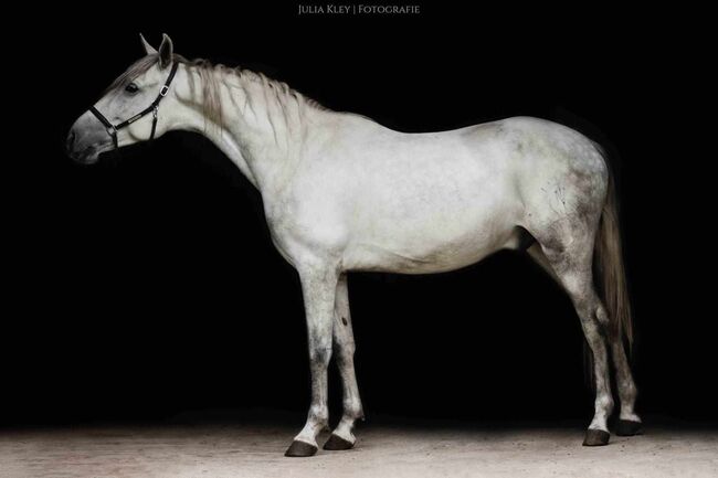
[[[622,199],[638,411],[715,421],[700,29],[673,11],[420,4],[420,15],[349,18],[298,17],[293,2],[45,8],[53,22],[8,45],[17,71],[4,73],[19,127],[3,155],[0,421],[308,405],[298,279],[239,170],[189,134],[92,168],[63,153],[74,119],[141,55],[140,31],[403,131],[532,115],[604,144]],[[349,280],[369,417],[592,415],[578,318],[527,257]],[[336,373],[330,382],[336,412]]]

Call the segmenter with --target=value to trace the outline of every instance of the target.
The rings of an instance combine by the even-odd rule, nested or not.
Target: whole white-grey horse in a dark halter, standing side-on
[[[398,132],[323,108],[261,74],[189,62],[172,52],[167,35],[159,51],[142,44],[147,55],[75,121],[68,155],[93,163],[103,151],[155,134],[199,131],[260,190],[272,240],[299,274],[308,330],[312,404],[287,456],[314,455],[328,426],[332,349],[344,414],[324,448],[355,445],[352,428],[363,412],[349,270],[440,273],[501,248],[526,249],[576,307],[595,381],[583,444],[609,440],[609,353],[621,404],[616,433],[640,432],[623,343],[631,341],[631,318],[615,200],[599,146],[528,117]]]

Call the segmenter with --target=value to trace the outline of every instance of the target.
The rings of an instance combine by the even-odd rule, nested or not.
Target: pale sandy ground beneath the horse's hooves
[[[715,428],[655,424],[587,448],[578,424],[383,419],[352,450],[285,458],[297,421],[0,428],[0,477],[718,477]]]

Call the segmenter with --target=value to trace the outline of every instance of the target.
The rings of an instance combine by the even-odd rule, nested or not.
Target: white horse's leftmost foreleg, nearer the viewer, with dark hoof
[[[317,452],[317,435],[329,423],[327,405],[327,365],[331,358],[331,329],[337,289],[337,273],[331,267],[299,269],[307,319],[312,404],[307,422],[294,438],[286,456],[312,456]]]

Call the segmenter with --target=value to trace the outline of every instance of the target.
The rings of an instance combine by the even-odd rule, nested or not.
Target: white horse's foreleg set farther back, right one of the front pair
[[[359,386],[353,369],[355,341],[351,328],[351,314],[349,312],[349,290],[347,275],[339,276],[334,319],[334,347],[335,360],[341,376],[344,392],[344,414],[341,421],[324,444],[324,449],[349,449],[353,447],[357,438],[352,429],[357,418],[363,418]]]

